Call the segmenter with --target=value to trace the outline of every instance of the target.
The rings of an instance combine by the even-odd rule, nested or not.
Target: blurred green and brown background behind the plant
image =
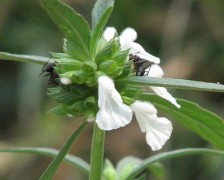
[[[89,22],[95,1],[64,0]],[[151,54],[161,58],[165,77],[224,83],[223,0],[117,0],[108,25],[118,31],[133,27],[138,40]],[[62,52],[63,35],[38,0],[1,0],[0,51],[40,55]],[[39,77],[40,65],[0,61],[0,148],[60,148],[82,119],[61,118],[48,111],[56,105],[47,93],[47,78]],[[199,103],[224,117],[224,94],[169,90],[175,97]],[[160,116],[167,116],[160,112]],[[185,127],[173,122],[171,139],[161,151],[187,147],[212,147]],[[90,158],[92,124],[73,146],[71,153]],[[119,142],[118,142],[119,139]],[[107,133],[105,155],[116,163],[127,155],[149,157],[145,135],[133,121]],[[0,154],[0,179],[35,180],[50,158],[27,154]],[[224,179],[224,160],[191,156],[166,161],[167,180]],[[55,180],[87,179],[63,164]]]

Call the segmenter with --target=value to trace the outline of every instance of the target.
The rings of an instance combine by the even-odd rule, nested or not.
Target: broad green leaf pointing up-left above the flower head
[[[86,20],[68,5],[59,0],[41,0],[55,24],[66,35],[72,50],[78,49],[89,57],[90,28]]]

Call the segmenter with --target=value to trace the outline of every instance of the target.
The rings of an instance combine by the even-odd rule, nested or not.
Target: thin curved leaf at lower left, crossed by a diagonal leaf
[[[56,157],[59,153],[58,150],[52,148],[39,148],[39,147],[24,147],[24,148],[7,148],[7,149],[0,149],[0,152],[7,152],[7,153],[31,153],[37,155],[43,155],[48,157]],[[64,161],[68,162],[69,164],[73,165],[74,167],[78,168],[85,174],[89,174],[90,166],[87,162],[82,160],[79,157],[74,155],[67,154],[64,158]]]

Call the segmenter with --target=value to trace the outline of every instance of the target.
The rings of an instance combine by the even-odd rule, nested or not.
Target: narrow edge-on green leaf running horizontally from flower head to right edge
[[[146,76],[132,76],[116,81],[117,85],[138,84],[158,87],[172,87],[176,89],[189,89],[200,91],[224,92],[224,85],[219,83],[206,83],[200,81],[190,81],[184,79],[154,78]]]

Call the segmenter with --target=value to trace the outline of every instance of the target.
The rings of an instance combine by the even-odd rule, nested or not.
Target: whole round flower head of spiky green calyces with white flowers
[[[158,117],[151,103],[138,100],[141,89],[128,84],[116,86],[116,80],[133,76],[136,71],[133,66],[137,65],[130,57],[137,57],[137,70],[141,68],[142,75],[161,78],[164,74],[159,66],[160,59],[146,52],[136,39],[137,33],[132,28],[118,36],[115,28],[108,27],[97,42],[93,57],[88,53],[85,57],[71,53],[72,44],[65,41],[65,53],[53,53],[59,86],[49,88],[49,94],[60,103],[54,112],[95,119],[98,127],[106,131],[129,124],[135,114],[141,131],[146,133],[147,144],[152,150],[159,150],[171,135],[171,122]],[[143,68],[146,62],[150,65]],[[165,88],[151,88],[180,108]],[[134,96],[130,95],[132,90]]]

